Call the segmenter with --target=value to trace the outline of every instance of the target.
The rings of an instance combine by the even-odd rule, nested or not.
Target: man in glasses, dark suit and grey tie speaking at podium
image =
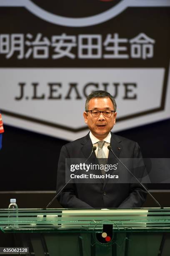
[[[95,159],[102,157],[108,161],[115,160],[108,145],[118,158],[142,159],[138,143],[110,132],[117,113],[115,99],[108,92],[92,92],[87,97],[83,115],[90,133],[62,147],[58,162],[57,192],[65,186],[65,159],[87,159],[93,146],[96,146],[96,150],[91,157]],[[99,183],[68,183],[62,190],[59,201],[65,208],[131,208],[142,207],[146,195],[140,184],[110,183],[108,179],[104,179]]]

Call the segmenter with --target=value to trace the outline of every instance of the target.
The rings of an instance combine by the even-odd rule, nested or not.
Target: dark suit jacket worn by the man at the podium
[[[62,146],[57,170],[57,192],[65,185],[65,159],[88,158],[92,151],[89,134]],[[110,146],[119,158],[141,158],[138,143],[111,133]],[[92,157],[96,158],[93,151]],[[115,156],[109,152],[108,159]],[[127,171],[128,172],[128,171]],[[142,207],[147,192],[136,183],[69,183],[59,198],[64,208],[133,208]]]

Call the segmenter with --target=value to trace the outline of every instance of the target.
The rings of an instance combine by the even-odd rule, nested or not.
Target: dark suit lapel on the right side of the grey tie
[[[119,158],[120,152],[122,150],[122,148],[120,146],[120,142],[121,142],[121,140],[118,139],[117,136],[115,136],[113,133],[111,133],[110,146],[112,147],[112,151],[115,153],[115,155],[118,158]],[[107,164],[117,164],[117,161],[118,160],[115,158],[115,156],[112,154],[112,152],[109,151],[109,155],[108,155],[108,159],[107,159]],[[114,170],[108,172],[108,174],[112,175],[113,172],[114,172]],[[103,184],[103,188],[105,187],[105,185],[107,184],[108,181],[109,181],[109,178],[105,178],[104,184]]]

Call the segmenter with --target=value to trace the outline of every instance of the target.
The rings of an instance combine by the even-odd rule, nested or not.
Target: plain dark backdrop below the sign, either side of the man
[[[0,190],[55,190],[57,163],[68,141],[4,125]],[[116,133],[137,141],[144,158],[170,158],[170,119]],[[170,184],[150,184],[170,189]]]

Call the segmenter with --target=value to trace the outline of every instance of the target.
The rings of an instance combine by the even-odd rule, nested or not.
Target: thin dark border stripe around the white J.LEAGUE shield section
[[[165,99],[166,99],[166,91],[167,91],[169,66],[168,66],[167,69],[165,67],[163,67],[163,68],[165,69],[165,76],[164,76],[164,82],[163,82],[163,91],[162,91],[162,98],[161,98],[160,107],[159,108],[154,108],[154,109],[151,109],[151,110],[147,110],[147,111],[143,111],[143,112],[139,112],[139,113],[132,114],[132,115],[127,115],[127,116],[124,116],[124,117],[121,117],[121,118],[117,118],[116,122],[132,119],[132,118],[137,118],[137,117],[140,117],[140,116],[143,116],[143,115],[156,113],[156,112],[159,112],[159,111],[163,111],[165,109]],[[59,125],[59,124],[55,124],[55,123],[52,123],[52,122],[47,122],[45,120],[40,120],[40,119],[37,119],[37,118],[31,118],[31,117],[28,117],[26,115],[20,115],[20,114],[9,112],[9,111],[2,110],[2,109],[1,109],[1,113],[3,115],[7,115],[7,116],[10,116],[10,117],[13,117],[13,118],[19,118],[19,119],[23,119],[23,120],[26,120],[26,121],[30,121],[32,123],[46,125],[46,126],[50,126],[50,127],[53,127],[53,128],[59,128],[59,129],[74,132],[74,133],[77,133],[77,132],[80,132],[80,131],[85,131],[85,130],[88,129],[88,126],[83,126],[83,127],[80,127],[80,128],[70,128],[70,127],[65,126],[65,125]]]

